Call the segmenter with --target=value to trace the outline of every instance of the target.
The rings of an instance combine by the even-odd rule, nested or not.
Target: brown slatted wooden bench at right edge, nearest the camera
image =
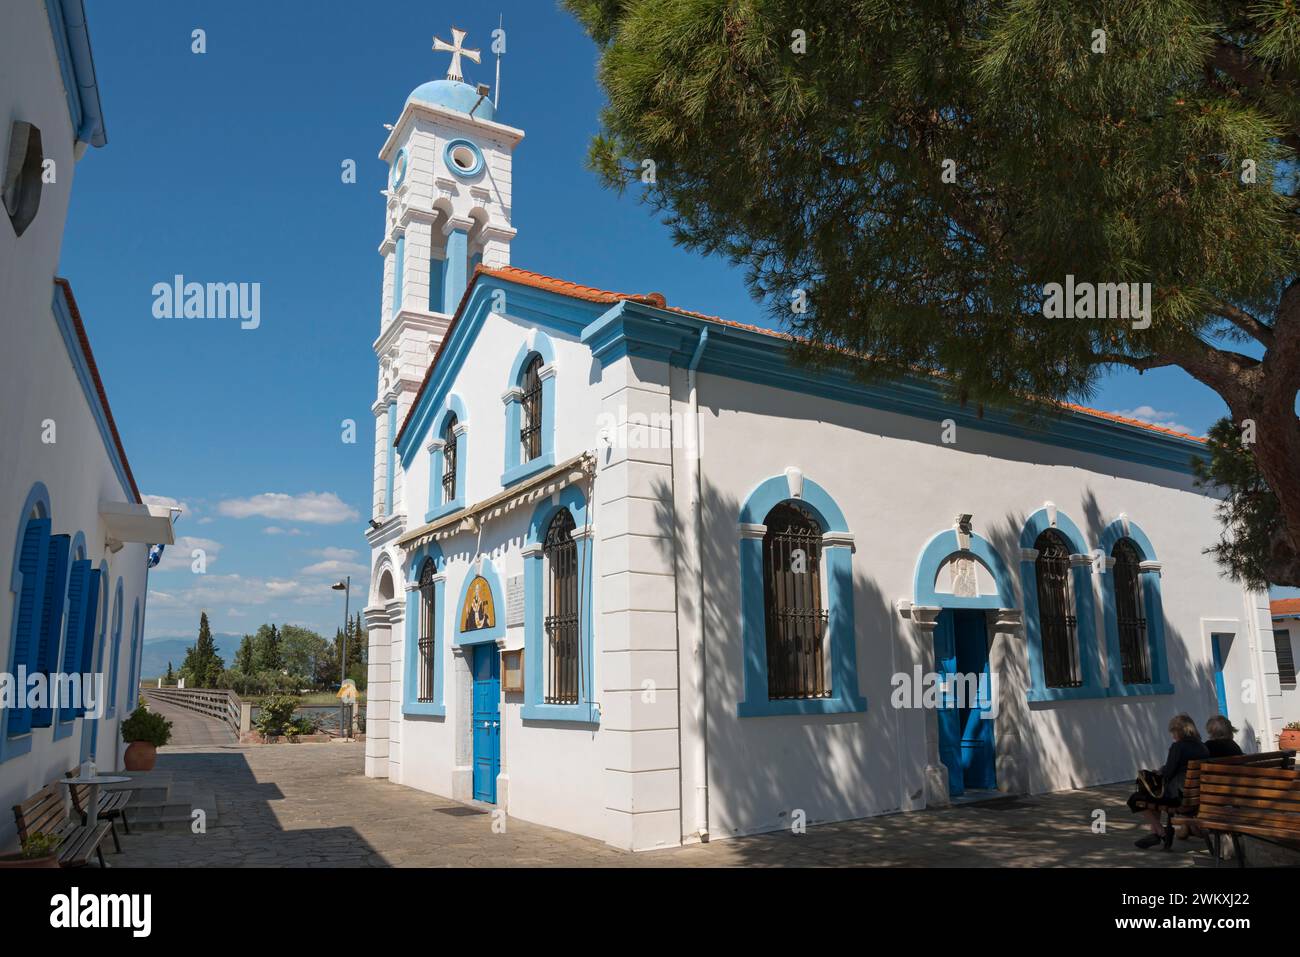
[[[1221,858],[1223,835],[1232,840],[1239,867],[1245,866],[1242,835],[1283,846],[1300,846],[1300,770],[1295,752],[1266,752],[1192,761],[1183,783],[1183,805],[1171,823],[1193,823],[1214,835]]]

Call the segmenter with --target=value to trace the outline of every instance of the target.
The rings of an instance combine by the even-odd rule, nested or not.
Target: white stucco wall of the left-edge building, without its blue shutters
[[[32,486],[43,482],[49,494],[53,534],[84,534],[86,557],[94,567],[108,570],[103,584],[110,601],[117,581],[122,581],[125,607],[117,666],[117,718],[99,723],[96,754],[99,767],[118,768],[124,750],[118,724],[134,705],[126,684],[133,672],[130,629],[136,602],[143,638],[147,546],[126,545],[117,553],[105,547],[99,503],[134,501],[134,497],[129,497],[113,468],[51,309],[74,157],[58,61],[44,4],[39,0],[23,0],[5,9],[5,30],[0,31],[0,157],[8,155],[10,122],[25,120],[40,127],[44,155],[56,163],[56,181],[44,185],[39,213],[22,237],[14,235],[8,216],[0,213],[0,316],[6,333],[6,347],[0,351],[4,443],[0,456],[0,668],[8,670],[13,645],[12,584],[25,519],[21,511]],[[94,338],[94,316],[84,319]],[[47,420],[55,425],[55,441],[48,443],[42,441]],[[64,625],[66,632],[66,609]],[[96,622],[96,642],[100,631]],[[136,642],[136,655],[142,648],[143,640]],[[134,664],[138,672],[138,658]],[[112,674],[110,662],[105,662],[104,671]],[[9,807],[79,763],[86,726],[84,719],[78,719],[72,733],[58,741],[53,740],[52,727],[36,728],[31,732],[29,753],[0,763],[0,806],[5,809],[0,815],[0,849],[8,850],[16,843]]]

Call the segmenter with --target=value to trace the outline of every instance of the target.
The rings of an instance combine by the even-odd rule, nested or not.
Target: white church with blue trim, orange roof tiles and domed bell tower
[[[1275,746],[1200,439],[511,265],[462,40],[380,152],[368,775],[641,850],[1131,779],[1179,711]]]

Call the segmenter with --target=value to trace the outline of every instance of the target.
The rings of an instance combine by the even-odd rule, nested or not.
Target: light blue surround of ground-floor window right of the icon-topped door
[[[546,529],[550,528],[551,519],[562,508],[567,508],[573,516],[573,538],[577,545],[578,567],[578,605],[581,619],[578,622],[578,646],[581,649],[581,687],[586,701],[576,705],[547,705],[545,701],[545,661],[546,661],[546,631],[542,627],[546,615],[543,585],[546,579],[546,559],[542,555],[542,541],[546,538]],[[594,541],[586,534],[588,501],[582,490],[569,485],[559,493],[559,501],[550,499],[542,502],[533,510],[533,516],[528,523],[528,536],[524,540],[524,706],[521,716],[525,720],[569,722],[577,724],[599,724],[601,709],[595,703],[595,677],[594,645],[595,632],[593,629],[593,594],[595,581],[593,572]]]

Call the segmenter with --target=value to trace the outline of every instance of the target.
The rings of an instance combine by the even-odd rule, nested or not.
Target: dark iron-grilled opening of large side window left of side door
[[[831,697],[828,616],[822,603],[822,525],[790,502],[772,508],[763,524],[767,697]]]

